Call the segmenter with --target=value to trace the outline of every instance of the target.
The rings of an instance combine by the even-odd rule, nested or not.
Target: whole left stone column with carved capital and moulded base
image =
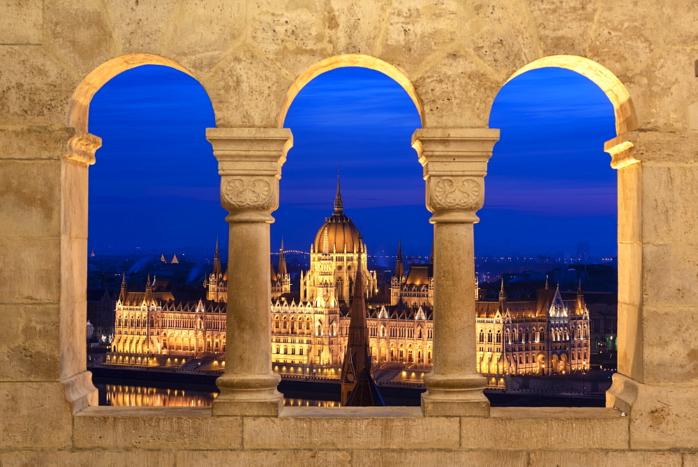
[[[279,178],[291,147],[288,128],[208,128],[230,213],[225,373],[214,415],[278,415],[269,319],[269,224],[279,206]]]

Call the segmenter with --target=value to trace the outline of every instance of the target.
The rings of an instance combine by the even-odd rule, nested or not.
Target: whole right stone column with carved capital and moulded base
[[[476,371],[473,224],[498,139],[491,128],[424,128],[413,135],[434,225],[433,369],[424,376],[424,415],[489,415],[487,380]]]

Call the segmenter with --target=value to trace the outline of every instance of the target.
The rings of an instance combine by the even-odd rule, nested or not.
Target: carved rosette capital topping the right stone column
[[[420,128],[412,136],[426,181],[426,209],[431,223],[480,219],[475,212],[484,203],[484,176],[492,148],[499,140],[496,128]]]

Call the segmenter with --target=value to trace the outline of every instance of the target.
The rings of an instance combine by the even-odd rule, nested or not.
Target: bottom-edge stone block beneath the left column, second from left
[[[259,451],[179,451],[178,466],[350,466],[352,454],[346,451],[259,450]]]

